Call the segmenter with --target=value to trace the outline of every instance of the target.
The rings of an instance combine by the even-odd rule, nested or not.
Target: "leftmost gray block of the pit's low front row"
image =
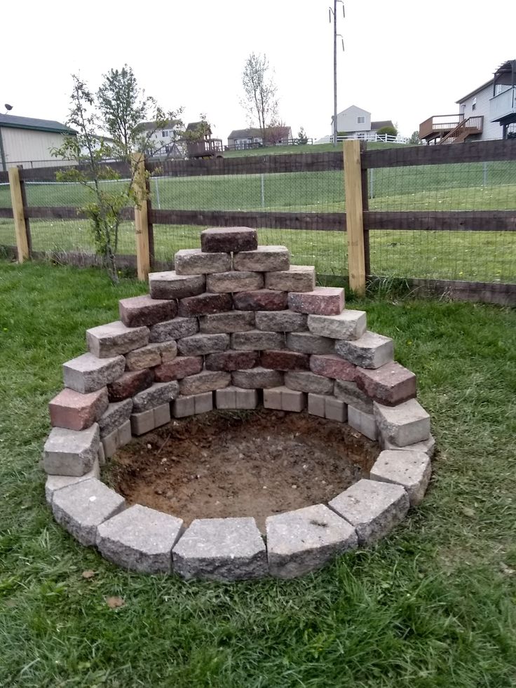
[[[121,511],[125,500],[96,478],[81,480],[54,493],[54,518],[83,545],[95,544],[97,526]]]

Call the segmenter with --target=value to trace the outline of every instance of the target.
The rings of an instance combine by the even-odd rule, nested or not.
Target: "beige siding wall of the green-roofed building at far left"
[[[50,155],[50,149],[62,145],[62,134],[12,127],[1,127],[0,133],[7,167],[22,165],[24,168],[36,168],[72,164]]]

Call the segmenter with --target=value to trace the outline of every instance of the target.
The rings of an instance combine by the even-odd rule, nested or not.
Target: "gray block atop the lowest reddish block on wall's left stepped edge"
[[[83,353],[63,363],[64,386],[87,394],[114,382],[125,369],[123,356],[97,358],[93,353]]]

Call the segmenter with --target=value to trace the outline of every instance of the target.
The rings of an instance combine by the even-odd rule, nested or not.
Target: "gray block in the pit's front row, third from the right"
[[[295,578],[358,546],[355,528],[324,504],[266,519],[269,573]]]

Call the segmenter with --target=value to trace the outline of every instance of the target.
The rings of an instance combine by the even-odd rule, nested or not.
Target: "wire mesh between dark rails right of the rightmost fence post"
[[[515,210],[516,161],[368,171],[370,210]],[[516,283],[512,231],[371,231],[378,276]]]

